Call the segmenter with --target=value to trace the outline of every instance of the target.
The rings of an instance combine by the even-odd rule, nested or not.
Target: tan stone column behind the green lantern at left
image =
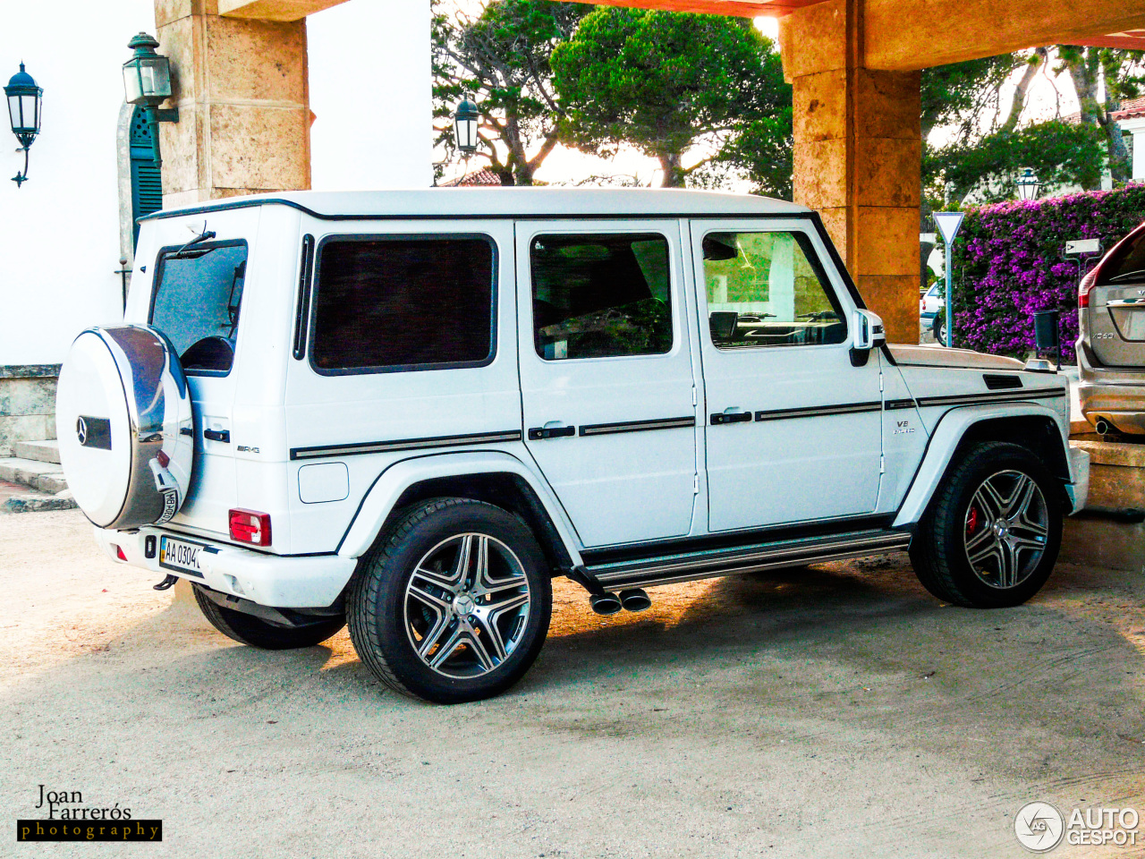
[[[218,0],[155,0],[179,123],[160,125],[164,207],[310,187],[306,19],[220,17]]]

